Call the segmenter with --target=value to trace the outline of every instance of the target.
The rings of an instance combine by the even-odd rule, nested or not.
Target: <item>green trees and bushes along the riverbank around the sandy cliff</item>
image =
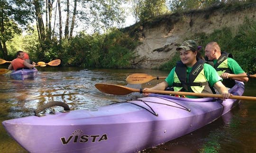
[[[136,23],[120,28],[125,17],[121,5],[128,1],[132,5],[131,11]],[[48,4],[49,2],[51,4]],[[135,58],[134,50],[140,44],[137,35],[140,26],[157,26],[157,22],[165,20],[163,17],[173,18],[175,15],[179,20],[183,12],[205,9],[210,11],[221,7],[225,8],[225,11],[232,11],[246,9],[254,4],[250,0],[74,0],[72,4],[67,2],[8,0],[7,4],[0,3],[0,58],[12,60],[18,50],[23,50],[28,52],[34,61],[62,59],[62,66],[131,68],[130,61]],[[12,7],[20,6],[20,3],[23,4],[22,7]],[[45,6],[48,6],[47,9]],[[79,9],[77,6],[87,6],[88,9]],[[35,18],[37,24],[31,27],[29,23]],[[20,25],[23,28],[20,28]],[[84,28],[74,34],[75,27],[81,25]],[[86,29],[93,29],[93,33],[89,34]],[[216,29],[212,34],[195,34],[187,39],[199,42],[203,46],[202,52],[207,42],[219,42],[222,51],[232,53],[245,71],[256,73],[255,29],[256,21],[245,19],[244,24],[237,29]],[[178,59],[179,56],[175,55],[160,68],[169,70]]]

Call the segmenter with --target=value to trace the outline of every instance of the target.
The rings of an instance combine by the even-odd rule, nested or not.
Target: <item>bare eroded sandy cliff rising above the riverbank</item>
[[[173,57],[176,47],[186,38],[196,33],[210,34],[223,27],[235,29],[246,17],[256,19],[256,5],[231,10],[216,8],[192,11],[168,15],[150,25],[145,23],[137,30],[142,44],[135,50],[137,58],[131,61],[133,68],[158,67]]]

